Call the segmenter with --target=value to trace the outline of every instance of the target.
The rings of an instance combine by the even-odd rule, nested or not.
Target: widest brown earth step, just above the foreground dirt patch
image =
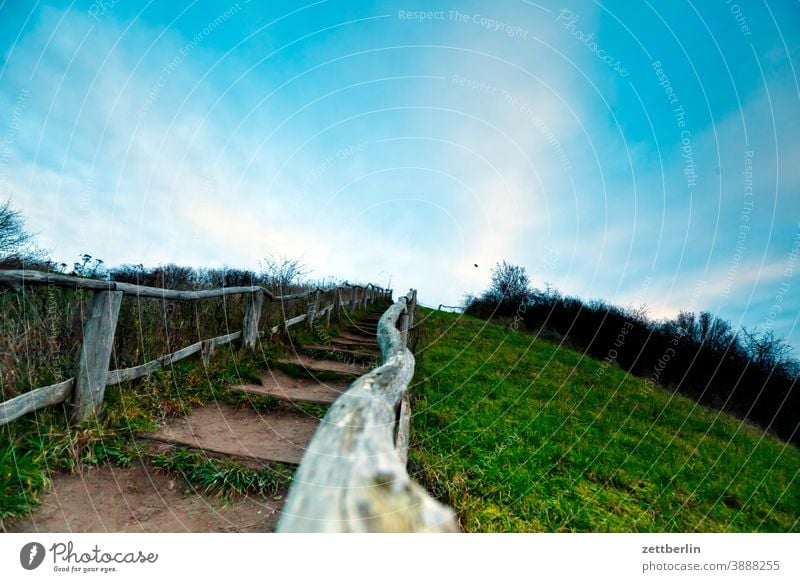
[[[299,464],[319,420],[308,415],[211,404],[170,419],[158,432],[140,438],[200,449],[257,463]]]

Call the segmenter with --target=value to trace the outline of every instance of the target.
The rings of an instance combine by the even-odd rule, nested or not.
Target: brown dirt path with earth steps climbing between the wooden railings
[[[375,336],[359,329],[369,330],[376,321],[373,313],[353,322],[342,334],[342,347],[355,344],[359,350],[376,353]],[[355,377],[369,369],[364,362],[342,362],[343,358],[336,357],[341,354],[302,351],[300,348],[301,353],[284,360],[294,370],[291,375],[286,373],[288,369],[268,370],[260,385],[228,387],[281,400],[281,407],[264,412],[211,403],[142,437],[148,442],[168,442],[170,446],[224,456],[248,467],[275,461],[299,463],[319,420],[294,404],[330,404]],[[298,368],[303,372],[301,377]],[[319,372],[338,374],[340,379],[322,381],[316,377]],[[29,519],[12,524],[9,531],[269,532],[277,524],[286,493],[240,497],[225,503],[148,463],[139,461],[124,469],[105,465],[84,469],[78,475],[57,475]]]

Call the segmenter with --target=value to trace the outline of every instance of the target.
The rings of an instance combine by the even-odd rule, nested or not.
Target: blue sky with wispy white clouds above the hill
[[[795,0],[6,0],[0,54],[0,200],[59,261],[437,306],[506,260],[800,346]]]

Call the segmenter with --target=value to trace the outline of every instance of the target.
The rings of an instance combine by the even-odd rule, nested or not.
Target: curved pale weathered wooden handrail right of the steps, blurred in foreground
[[[378,322],[382,365],[328,409],[306,449],[279,532],[453,532],[455,515],[406,472],[416,291]]]

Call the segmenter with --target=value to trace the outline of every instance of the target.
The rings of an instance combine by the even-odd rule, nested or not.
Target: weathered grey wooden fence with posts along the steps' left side
[[[75,377],[51,386],[36,388],[15,398],[0,402],[0,426],[29,412],[66,402],[70,398],[74,405],[75,419],[78,421],[85,420],[100,410],[106,386],[141,378],[196,353],[200,353],[203,360],[207,362],[216,346],[238,339],[242,340],[244,347],[254,349],[259,337],[265,335],[264,332],[259,331],[259,321],[265,299],[270,302],[304,299],[309,301],[309,308],[306,313],[272,327],[268,333],[274,334],[304,321],[307,321],[310,326],[314,320],[320,317],[325,317],[326,324],[330,324],[331,314],[335,312],[338,318],[345,307],[349,307],[350,311],[354,311],[366,308],[368,303],[376,299],[391,298],[391,290],[382,289],[371,284],[367,286],[343,285],[333,289],[317,288],[304,293],[281,296],[274,295],[268,289],[258,286],[178,291],[22,270],[0,270],[0,285],[11,287],[15,290],[22,289],[26,285],[51,285],[70,289],[86,289],[94,292],[88,318],[83,329],[83,342]],[[333,303],[320,308],[320,296],[323,293],[331,292],[334,295]],[[202,340],[140,366],[122,370],[109,370],[114,333],[124,295],[180,301],[198,301],[215,297],[245,295],[247,301],[240,331]],[[342,295],[346,296],[347,303],[343,302]]]

